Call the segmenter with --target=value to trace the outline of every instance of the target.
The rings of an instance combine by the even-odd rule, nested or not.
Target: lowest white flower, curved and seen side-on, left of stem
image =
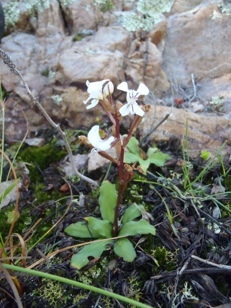
[[[88,141],[93,145],[92,151],[106,151],[111,148],[111,142],[115,140],[113,136],[108,139],[102,140],[99,136],[99,125],[95,125],[91,128],[89,133],[87,134]]]

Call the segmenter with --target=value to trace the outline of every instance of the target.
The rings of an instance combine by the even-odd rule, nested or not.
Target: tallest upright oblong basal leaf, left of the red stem
[[[114,222],[117,191],[115,184],[103,181],[99,188],[99,207],[104,220]]]

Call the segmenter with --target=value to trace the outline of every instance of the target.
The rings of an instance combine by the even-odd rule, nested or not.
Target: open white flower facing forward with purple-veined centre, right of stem
[[[127,92],[127,102],[128,103],[120,108],[120,114],[122,116],[125,116],[125,115],[128,115],[129,112],[131,112],[132,115],[136,113],[137,115],[143,116],[144,111],[139,107],[136,101],[140,95],[148,95],[149,90],[145,86],[145,84],[140,83],[137,91],[135,91],[135,90],[129,90],[128,83],[124,81],[117,86],[117,89]]]

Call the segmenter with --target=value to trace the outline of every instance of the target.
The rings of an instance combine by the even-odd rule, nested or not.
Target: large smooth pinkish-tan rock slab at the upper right
[[[231,18],[212,19],[213,10],[217,4],[207,3],[168,19],[162,67],[178,82],[187,84],[191,73],[201,80],[231,71]]]

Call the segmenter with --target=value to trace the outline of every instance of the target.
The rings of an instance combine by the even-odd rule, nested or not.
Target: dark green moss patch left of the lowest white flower
[[[42,170],[49,167],[51,163],[61,160],[67,153],[63,150],[55,148],[52,144],[46,144],[43,147],[29,147],[19,154],[20,158],[31,164],[27,165],[30,171],[30,183],[35,184],[42,182],[43,177],[36,165]]]

